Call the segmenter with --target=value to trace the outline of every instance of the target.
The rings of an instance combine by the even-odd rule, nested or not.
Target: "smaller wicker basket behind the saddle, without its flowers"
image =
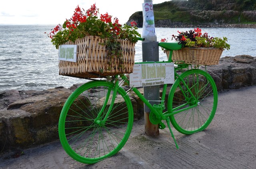
[[[184,47],[172,52],[176,64],[218,65],[223,49],[213,47]],[[170,51],[164,51],[169,58]]]

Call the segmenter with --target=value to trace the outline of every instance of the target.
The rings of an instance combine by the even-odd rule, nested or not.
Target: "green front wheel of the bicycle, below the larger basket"
[[[113,88],[114,83],[91,81],[77,88],[65,102],[59,119],[59,137],[66,153],[76,161],[101,161],[117,153],[128,140],[133,123],[132,103],[119,86],[110,108]]]

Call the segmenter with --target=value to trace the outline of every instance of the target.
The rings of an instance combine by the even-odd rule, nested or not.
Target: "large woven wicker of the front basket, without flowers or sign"
[[[77,62],[59,61],[59,74],[79,78],[97,78],[113,76],[121,73],[132,73],[134,66],[135,43],[118,40],[121,43],[124,66],[119,67],[119,59],[114,58],[111,65],[107,64],[105,39],[97,36],[86,36],[65,45],[77,45]],[[111,70],[108,70],[108,68]]]

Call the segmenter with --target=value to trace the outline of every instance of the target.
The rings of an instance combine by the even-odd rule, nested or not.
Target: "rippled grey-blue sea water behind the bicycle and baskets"
[[[0,91],[3,90],[45,90],[58,86],[70,87],[88,80],[58,75],[58,50],[44,33],[52,25],[0,26]],[[189,28],[156,28],[157,40],[171,41],[177,31]],[[224,56],[256,56],[255,33],[250,28],[202,28],[214,37],[227,37],[230,50]],[[142,33],[142,28],[138,31]],[[142,42],[135,46],[135,61],[142,61]],[[159,60],[167,60],[159,48]]]

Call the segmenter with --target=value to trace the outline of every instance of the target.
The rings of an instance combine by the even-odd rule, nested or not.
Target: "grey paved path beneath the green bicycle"
[[[168,128],[158,138],[144,135],[144,120],[134,122],[131,137],[113,157],[94,165],[72,160],[58,141],[22,150],[17,158],[0,157],[0,169],[255,169],[256,86],[218,95],[214,120],[190,136]],[[8,156],[7,156],[8,157]]]

